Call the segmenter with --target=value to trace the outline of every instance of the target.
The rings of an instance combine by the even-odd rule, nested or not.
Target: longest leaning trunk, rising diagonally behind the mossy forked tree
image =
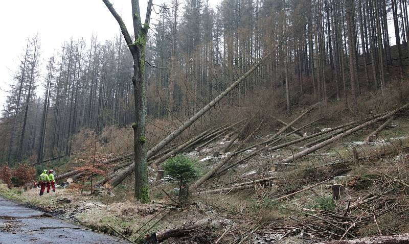
[[[209,111],[211,108],[213,108],[225,95],[227,95],[230,91],[232,91],[237,85],[239,85],[241,82],[243,82],[249,75],[251,75],[254,70],[256,70],[264,61],[268,60],[269,57],[271,56],[272,53],[274,53],[277,48],[281,45],[281,43],[284,41],[284,38],[288,35],[283,35],[283,38],[279,41],[279,43],[274,47],[271,48],[271,50],[264,56],[259,62],[257,62],[251,69],[249,69],[247,72],[244,73],[239,79],[237,79],[233,84],[231,84],[228,88],[226,88],[223,92],[221,92],[218,96],[215,97],[208,105],[203,107],[201,110],[199,110],[196,114],[194,114],[191,118],[189,118],[183,125],[181,125],[179,128],[177,128],[175,131],[170,133],[166,138],[164,138],[162,141],[157,143],[155,147],[153,147],[151,150],[147,152],[147,157],[151,157],[152,155],[156,154],[159,150],[165,147],[166,144],[168,144],[170,141],[172,141],[174,138],[176,138],[180,133],[185,131],[189,126],[191,126],[198,118],[200,118],[203,114],[205,114],[207,111]],[[116,187],[121,183],[127,176],[129,176],[133,170],[134,170],[135,164],[132,163],[128,167],[126,167],[122,172],[118,174],[115,178],[113,178],[110,181],[110,184],[113,187]]]

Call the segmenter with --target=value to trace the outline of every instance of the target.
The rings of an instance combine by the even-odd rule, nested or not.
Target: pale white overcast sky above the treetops
[[[161,5],[164,1],[153,1]],[[113,7],[132,32],[132,12],[130,0],[111,0]],[[219,0],[209,0],[215,6]],[[141,0],[141,16],[146,14],[147,0]],[[168,5],[170,6],[170,4]],[[158,9],[154,6],[156,12]],[[152,20],[156,14],[152,11]],[[142,21],[145,17],[142,18]],[[112,17],[102,0],[5,0],[0,11],[0,110],[6,102],[7,90],[13,81],[19,60],[24,55],[27,38],[38,33],[40,37],[41,63],[61,49],[64,41],[83,37],[90,40],[97,35],[100,41],[112,39],[119,34],[117,21]],[[42,84],[41,77],[37,84]],[[37,92],[38,94],[41,91]]]

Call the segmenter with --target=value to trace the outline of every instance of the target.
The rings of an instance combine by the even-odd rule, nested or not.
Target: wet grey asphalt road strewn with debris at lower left
[[[15,204],[0,197],[0,244],[130,243],[115,236],[75,228],[85,227],[47,217],[41,211]]]

